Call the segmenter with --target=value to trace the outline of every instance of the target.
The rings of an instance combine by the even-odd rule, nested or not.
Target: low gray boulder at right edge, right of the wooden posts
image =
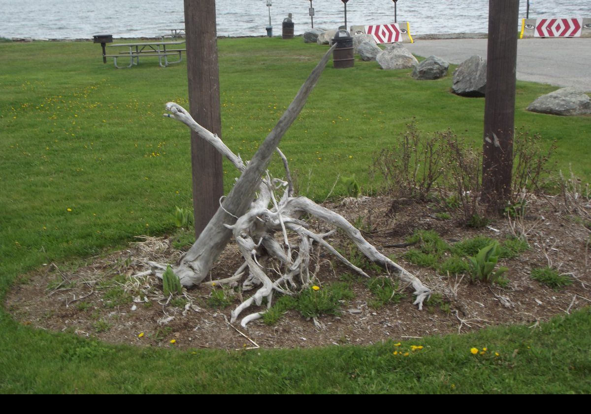
[[[562,88],[540,96],[527,110],[552,115],[591,115],[591,98],[583,90]]]

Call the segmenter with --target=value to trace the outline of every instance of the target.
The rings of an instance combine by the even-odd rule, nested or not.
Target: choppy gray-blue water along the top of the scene
[[[492,0],[493,1],[493,0]],[[281,22],[293,14],[295,33],[310,28],[309,0],[273,0],[271,24],[281,34]],[[343,3],[313,0],[314,27],[344,24]],[[525,17],[526,1],[519,5]],[[398,0],[398,21],[410,21],[411,33],[486,32],[488,0]],[[0,0],[1,37],[92,38],[154,37],[165,28],[184,27],[183,0]],[[267,0],[216,0],[217,34],[264,35],[269,23]],[[530,17],[591,17],[590,0],[530,1]],[[348,25],[394,21],[391,0],[349,0]],[[517,26],[517,22],[516,22]]]

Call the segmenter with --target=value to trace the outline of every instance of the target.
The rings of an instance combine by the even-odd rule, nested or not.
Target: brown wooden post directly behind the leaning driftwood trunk
[[[184,15],[191,117],[221,137],[216,2],[184,0]],[[191,132],[191,170],[195,237],[199,237],[219,207],[223,169],[220,153],[195,132]]]

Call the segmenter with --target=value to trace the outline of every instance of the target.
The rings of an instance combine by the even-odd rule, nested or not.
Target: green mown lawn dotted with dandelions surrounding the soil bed
[[[326,48],[301,38],[218,44],[222,137],[248,159]],[[189,130],[161,114],[169,101],[189,106],[185,64],[161,68],[146,58],[118,70],[90,42],[0,43],[0,54],[0,297],[42,263],[173,229],[174,206],[191,206]],[[375,62],[346,70],[329,63],[281,143],[300,193],[323,200],[338,174],[356,174],[371,190],[374,154],[413,120],[421,131],[450,128],[480,145],[484,100],[453,95],[451,83],[451,75],[417,82],[410,70]],[[589,181],[591,117],[525,111],[554,89],[518,82],[515,125],[546,145],[556,140],[558,168],[572,164]],[[271,170],[281,175],[277,161]],[[226,163],[226,190],[236,176]],[[344,194],[337,184],[333,196]],[[391,344],[196,354],[113,347],[20,326],[2,310],[0,391],[590,392],[582,380],[591,368],[583,334],[590,319],[583,311],[542,331],[428,338],[420,355],[395,360]],[[495,344],[501,356],[474,357],[469,348],[479,344],[491,351]]]

